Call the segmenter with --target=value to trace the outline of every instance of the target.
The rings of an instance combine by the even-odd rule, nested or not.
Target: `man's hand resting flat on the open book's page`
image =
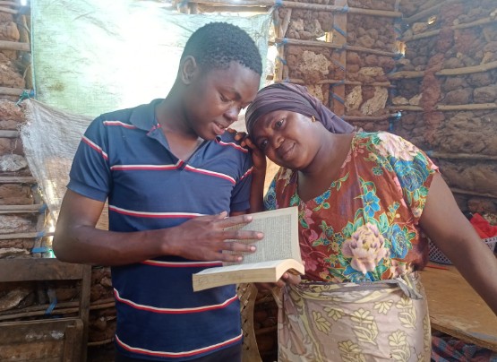
[[[227,212],[218,215],[201,216],[167,230],[168,254],[175,254],[190,260],[221,261],[240,263],[244,253],[253,253],[256,247],[237,241],[261,240],[259,231],[227,229],[244,226],[252,221],[250,215],[227,218]],[[223,253],[223,250],[235,254]]]

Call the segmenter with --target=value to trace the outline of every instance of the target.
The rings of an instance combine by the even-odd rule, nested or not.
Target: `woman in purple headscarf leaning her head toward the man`
[[[299,209],[305,275],[278,297],[279,360],[430,360],[424,234],[497,314],[496,259],[423,151],[394,134],[337,134],[344,122],[294,84],[260,90],[245,119],[253,211],[264,154],[281,166],[265,208]]]

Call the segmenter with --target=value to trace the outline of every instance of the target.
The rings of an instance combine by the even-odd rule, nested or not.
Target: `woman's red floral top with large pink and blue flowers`
[[[326,192],[304,203],[297,173],[280,168],[264,203],[268,210],[298,206],[307,279],[388,280],[427,263],[418,220],[436,170],[423,151],[394,134],[355,134]]]

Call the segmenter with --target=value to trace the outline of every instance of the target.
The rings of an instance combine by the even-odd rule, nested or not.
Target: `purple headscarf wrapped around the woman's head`
[[[314,116],[333,134],[350,134],[354,126],[326,108],[321,100],[313,97],[305,87],[293,83],[274,83],[262,88],[245,113],[248,134],[261,116],[285,109],[304,116]]]

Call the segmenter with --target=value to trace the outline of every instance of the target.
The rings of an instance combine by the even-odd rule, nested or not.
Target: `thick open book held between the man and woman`
[[[194,291],[227,284],[276,282],[285,271],[304,274],[298,245],[297,208],[256,212],[251,216],[251,223],[242,228],[234,228],[263,232],[264,238],[261,240],[243,241],[257,246],[257,251],[244,254],[242,263],[224,263],[223,266],[193,274]],[[227,240],[229,242],[231,241]]]

